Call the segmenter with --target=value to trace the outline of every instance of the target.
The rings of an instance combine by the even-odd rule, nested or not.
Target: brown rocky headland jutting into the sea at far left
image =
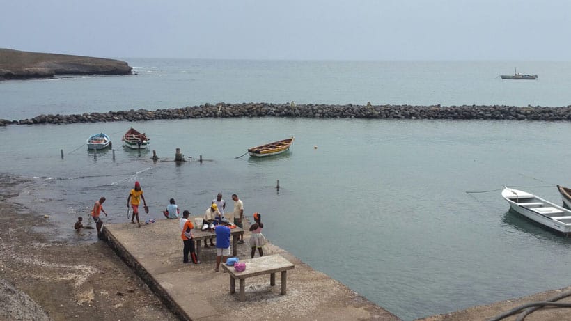
[[[129,75],[131,70],[125,61],[114,59],[0,49],[0,80],[55,75]]]

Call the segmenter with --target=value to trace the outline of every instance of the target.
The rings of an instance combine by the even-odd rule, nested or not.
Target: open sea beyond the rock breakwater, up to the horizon
[[[139,76],[0,83],[0,118],[195,106],[299,104],[571,104],[571,62],[216,61],[125,59]],[[538,74],[535,81],[499,75]],[[31,95],[30,93],[33,93]]]

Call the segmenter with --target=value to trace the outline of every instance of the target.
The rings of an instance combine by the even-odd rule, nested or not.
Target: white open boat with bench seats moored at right
[[[571,233],[571,210],[546,201],[543,198],[506,187],[501,196],[510,208],[524,217],[557,230],[568,236]]]

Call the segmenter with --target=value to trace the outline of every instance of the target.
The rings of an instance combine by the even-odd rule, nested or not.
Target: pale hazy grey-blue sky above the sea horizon
[[[567,0],[0,0],[0,47],[104,58],[570,61]]]

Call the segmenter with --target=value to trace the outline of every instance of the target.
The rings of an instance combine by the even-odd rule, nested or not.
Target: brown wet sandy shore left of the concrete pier
[[[7,282],[0,299],[6,302],[13,286],[41,308],[13,300],[0,304],[0,319],[45,320],[43,310],[52,320],[178,320],[95,235],[93,242],[66,242],[49,218],[14,203],[29,185],[0,176],[0,279]]]

